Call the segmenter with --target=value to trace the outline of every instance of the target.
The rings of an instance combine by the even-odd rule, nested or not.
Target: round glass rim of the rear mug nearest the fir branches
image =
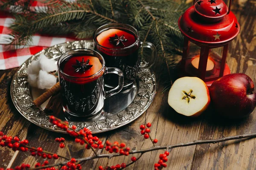
[[[96,31],[98,31],[99,29],[101,29],[102,27],[104,26],[109,26],[109,25],[113,25],[113,24],[118,24],[118,25],[121,25],[121,26],[129,26],[131,27],[132,29],[135,30],[135,33],[137,34],[137,40],[132,44],[132,45],[129,45],[128,47],[124,47],[124,48],[108,48],[108,47],[105,47],[103,45],[100,45],[99,42],[96,40]],[[99,45],[100,47],[102,48],[106,48],[108,50],[125,50],[125,49],[128,49],[128,48],[131,48],[133,47],[134,45],[137,44],[137,42],[140,40],[140,34],[139,34],[139,31],[134,28],[133,26],[129,25],[129,24],[124,24],[124,23],[108,23],[108,24],[105,24],[103,26],[100,26],[99,28],[97,28],[94,33],[93,33],[93,41],[96,43],[96,45]]]

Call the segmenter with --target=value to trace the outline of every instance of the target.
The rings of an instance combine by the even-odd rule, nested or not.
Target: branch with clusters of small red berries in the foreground
[[[235,139],[243,139],[243,138],[253,138],[256,137],[256,133],[251,133],[251,134],[243,134],[243,135],[237,135],[237,136],[228,136],[220,139],[211,139],[211,140],[197,140],[193,142],[188,142],[188,143],[180,143],[180,144],[172,144],[172,145],[166,145],[166,146],[154,146],[154,144],[157,143],[157,139],[152,139],[151,136],[149,135],[150,133],[150,127],[151,123],[147,123],[146,125],[140,125],[141,129],[141,134],[144,136],[145,139],[150,139],[151,142],[153,143],[153,147],[147,148],[147,149],[142,149],[142,150],[130,150],[130,147],[127,147],[125,143],[120,143],[119,142],[113,142],[111,143],[110,141],[106,141],[105,144],[102,143],[101,140],[97,136],[93,136],[92,133],[90,132],[89,129],[84,128],[83,130],[80,130],[79,132],[76,132],[76,127],[72,126],[69,127],[67,125],[67,122],[63,122],[58,118],[55,118],[54,116],[50,116],[50,122],[52,122],[54,125],[57,125],[63,130],[66,130],[70,136],[75,137],[75,142],[80,143],[81,145],[84,145],[85,143],[85,149],[105,149],[108,151],[108,154],[101,154],[95,156],[90,156],[90,157],[84,157],[84,158],[79,158],[75,159],[71,157],[70,151],[67,147],[67,143],[65,142],[64,138],[56,138],[55,141],[59,142],[59,147],[60,148],[67,148],[67,151],[70,155],[70,158],[66,158],[64,156],[60,156],[56,153],[51,153],[46,150],[43,150],[41,147],[35,148],[35,147],[30,147],[27,144],[29,143],[28,140],[23,140],[20,141],[20,139],[15,136],[6,136],[3,134],[3,132],[0,132],[0,146],[2,147],[9,147],[12,148],[12,150],[20,150],[23,152],[30,151],[32,156],[41,156],[44,159],[58,159],[58,158],[63,158],[66,159],[67,161],[62,161],[58,162],[56,164],[49,164],[48,160],[45,160],[43,164],[40,162],[37,162],[35,164],[35,167],[31,167],[29,164],[21,164],[20,166],[15,167],[15,169],[8,168],[6,170],[81,170],[82,165],[85,161],[87,160],[92,160],[92,159],[100,159],[100,158],[108,158],[111,159],[112,157],[116,156],[128,156],[129,154],[135,154],[135,153],[140,153],[140,155],[136,158],[135,156],[131,157],[131,162],[128,164],[122,163],[116,164],[113,166],[106,166],[102,167],[99,166],[99,170],[120,170],[124,169],[131,164],[134,164],[134,162],[138,161],[144,153],[151,152],[154,150],[166,150],[163,154],[159,155],[159,161],[154,164],[154,170],[160,170],[164,167],[167,167],[166,162],[168,161],[167,156],[169,156],[169,150],[175,147],[185,147],[185,146],[191,146],[191,145],[196,145],[196,144],[209,144],[209,143],[218,143],[218,142],[224,142],[224,141],[229,141],[229,140],[235,140]],[[94,150],[94,153],[96,151]],[[55,168],[57,167],[57,169]],[[0,168],[0,170],[5,170],[4,168]]]

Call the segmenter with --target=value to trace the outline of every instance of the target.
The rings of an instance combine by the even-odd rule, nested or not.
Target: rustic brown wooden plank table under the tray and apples
[[[241,31],[230,45],[227,63],[232,73],[244,73],[249,75],[256,83],[256,1],[235,0],[232,11],[239,20]],[[161,65],[158,62],[155,66]],[[177,144],[194,140],[215,139],[225,136],[234,136],[244,133],[256,132],[255,111],[246,119],[239,121],[227,121],[215,117],[215,113],[208,109],[198,118],[187,118],[174,113],[167,104],[168,91],[162,93],[165,77],[161,77],[164,71],[155,67],[157,75],[157,94],[154,102],[148,110],[136,121],[98,136],[103,141],[125,142],[131,149],[143,149],[152,147],[149,140],[144,140],[140,135],[139,126],[145,122],[151,122],[151,136],[158,139],[157,145]],[[71,154],[76,157],[92,156],[91,150],[84,152],[78,144],[73,144],[73,138],[44,130],[27,121],[15,109],[10,98],[10,83],[17,68],[0,71],[0,130],[8,136],[19,136],[28,139],[33,147],[43,147],[51,152],[67,155],[66,150],[59,149],[54,142],[56,137],[63,136],[67,139]],[[140,161],[128,167],[128,169],[144,170],[153,169],[154,163],[163,150],[144,154]],[[102,153],[105,153],[102,152]],[[243,139],[218,144],[201,144],[196,146],[174,148],[168,157],[168,169],[256,169],[256,139]],[[137,155],[135,155],[137,156]],[[99,165],[115,165],[122,162],[130,162],[130,156],[114,157],[108,160],[94,159],[84,164],[85,169],[96,169]],[[35,164],[43,161],[41,158],[29,156],[20,152],[14,152],[8,148],[0,147],[0,167],[15,167],[21,163]],[[53,160],[50,161],[53,163]],[[166,168],[167,169],[167,168]]]

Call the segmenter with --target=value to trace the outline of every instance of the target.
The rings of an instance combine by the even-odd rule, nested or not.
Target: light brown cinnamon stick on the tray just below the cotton
[[[37,99],[35,99],[33,102],[34,104],[39,107],[41,106],[47,99],[49,99],[53,94],[58,93],[61,90],[60,83],[57,82],[52,88],[47,90],[44,94],[39,96]]]

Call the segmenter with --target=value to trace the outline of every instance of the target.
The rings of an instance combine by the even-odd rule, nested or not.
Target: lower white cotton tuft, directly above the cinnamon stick
[[[57,78],[47,71],[40,70],[38,75],[38,88],[49,89],[57,82]]]

